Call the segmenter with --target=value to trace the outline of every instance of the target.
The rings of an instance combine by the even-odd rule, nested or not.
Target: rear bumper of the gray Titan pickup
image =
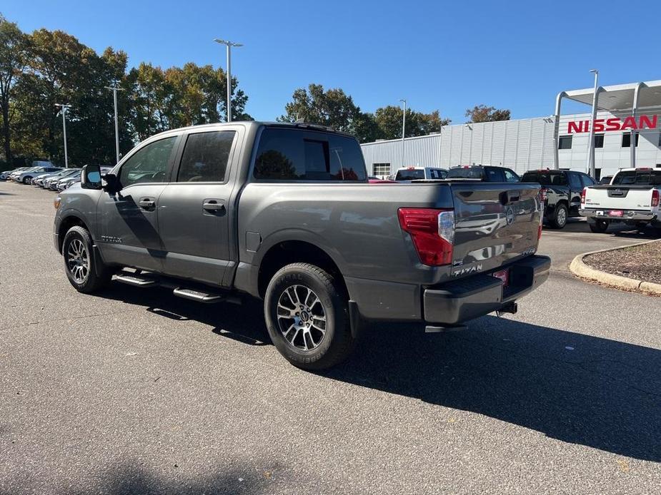
[[[425,290],[422,296],[424,320],[458,325],[500,310],[547,280],[551,259],[529,256],[507,267],[510,268],[510,285],[505,288],[499,278],[480,274]]]

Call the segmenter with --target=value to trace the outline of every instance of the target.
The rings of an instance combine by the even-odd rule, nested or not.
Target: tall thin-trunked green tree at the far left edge
[[[0,113],[4,158],[11,163],[12,91],[23,73],[28,57],[28,37],[13,22],[0,14]]]

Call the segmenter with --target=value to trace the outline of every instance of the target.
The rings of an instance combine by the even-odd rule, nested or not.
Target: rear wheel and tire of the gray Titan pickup
[[[298,291],[294,297],[292,297],[292,290]],[[306,293],[305,290],[312,292],[312,295],[317,296],[319,300],[318,303],[314,302],[309,305],[311,308],[309,314],[312,315],[313,312],[320,314],[322,310],[324,312],[325,332],[321,338],[319,338],[321,335],[319,331],[315,330],[317,327],[314,326],[315,319],[317,319],[317,325],[321,325],[318,316],[309,317],[312,327],[307,324],[308,330],[296,327],[296,325],[305,325],[305,322],[308,321],[307,317],[303,319],[304,311],[300,312],[300,317],[294,317],[293,313],[297,308],[296,301],[305,299],[309,302],[307,297],[310,292]],[[286,291],[289,291],[287,297],[285,297]],[[269,282],[264,297],[264,318],[273,344],[287,361],[302,369],[327,369],[339,364],[351,354],[354,348],[349,323],[348,299],[342,284],[317,266],[309,263],[292,263],[283,267]],[[301,309],[303,307],[306,308],[305,315],[307,315],[307,302],[301,305]],[[291,327],[289,327],[290,323]],[[292,337],[292,342],[286,338],[286,336],[289,337],[288,333],[285,333],[287,327],[290,332],[296,333]],[[300,330],[303,332],[302,337],[297,337],[300,335]],[[315,333],[316,335],[314,335]],[[314,344],[314,337],[318,339],[316,347],[309,346],[310,343]],[[302,347],[303,345],[312,347],[312,349],[306,350]]]

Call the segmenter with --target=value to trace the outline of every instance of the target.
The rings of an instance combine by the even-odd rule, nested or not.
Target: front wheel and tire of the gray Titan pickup
[[[74,286],[74,289],[78,292],[84,292],[84,294],[91,294],[103,289],[112,277],[108,267],[104,266],[101,260],[94,259],[93,245],[89,232],[79,225],[69,229],[64,235],[64,242],[62,243],[62,257],[64,258],[66,277],[69,278],[69,282]],[[74,256],[76,252],[81,252],[81,256]],[[95,269],[95,262],[98,263],[97,268],[100,267],[101,270]],[[86,270],[79,268],[84,265],[86,265]]]

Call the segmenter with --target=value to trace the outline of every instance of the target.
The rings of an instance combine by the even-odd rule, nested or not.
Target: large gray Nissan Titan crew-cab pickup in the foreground
[[[56,249],[80,292],[111,280],[199,302],[264,300],[292,364],[342,361],[362,323],[461,327],[515,312],[548,277],[540,186],[370,184],[357,141],[237,122],[153,136],[55,200]]]

